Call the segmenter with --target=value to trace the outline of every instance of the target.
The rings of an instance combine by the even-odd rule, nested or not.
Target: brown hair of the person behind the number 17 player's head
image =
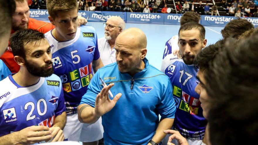
[[[199,23],[201,20],[201,16],[193,11],[185,12],[183,16],[180,19],[180,25],[184,25],[185,23],[188,22],[196,22]]]

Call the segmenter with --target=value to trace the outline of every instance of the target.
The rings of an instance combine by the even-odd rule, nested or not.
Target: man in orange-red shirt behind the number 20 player
[[[55,26],[53,26],[50,23],[30,18],[30,8],[28,6],[27,0],[15,0],[14,3],[16,4],[16,9],[13,10],[14,15],[11,19],[11,34],[16,32],[17,30],[25,29],[33,29],[38,30],[41,33],[47,33],[48,31],[55,28]],[[82,18],[81,16],[79,16],[78,21],[80,25],[85,25],[87,23],[87,20],[85,18]],[[3,25],[1,25],[1,27],[3,27]],[[7,65],[7,67],[10,69],[12,73],[17,73],[19,71],[20,66],[13,59],[13,53],[10,45],[7,47],[6,52],[4,52],[0,59],[4,61],[4,63]]]

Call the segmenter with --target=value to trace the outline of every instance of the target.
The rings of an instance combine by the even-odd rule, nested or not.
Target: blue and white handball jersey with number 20
[[[0,136],[33,125],[52,127],[55,117],[65,111],[61,80],[54,74],[28,87],[9,75],[0,81],[0,88]]]

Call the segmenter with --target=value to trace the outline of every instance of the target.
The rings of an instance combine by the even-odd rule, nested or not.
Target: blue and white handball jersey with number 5
[[[99,59],[97,35],[93,27],[82,25],[74,39],[58,42],[51,31],[45,36],[52,47],[54,74],[63,83],[67,114],[75,114],[93,76],[92,61]]]

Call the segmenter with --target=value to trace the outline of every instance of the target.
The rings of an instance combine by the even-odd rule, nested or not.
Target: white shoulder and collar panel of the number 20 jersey
[[[32,93],[32,92],[38,90],[43,85],[44,81],[45,81],[45,78],[40,77],[39,82],[33,86],[17,88],[17,86],[15,86],[11,82],[9,77],[6,77],[4,80],[0,81],[0,88],[1,88],[0,96],[6,94],[7,92],[10,92],[10,94],[7,97],[1,97],[0,107],[4,103],[9,102],[17,97],[20,97],[22,95],[29,94],[29,93]]]

